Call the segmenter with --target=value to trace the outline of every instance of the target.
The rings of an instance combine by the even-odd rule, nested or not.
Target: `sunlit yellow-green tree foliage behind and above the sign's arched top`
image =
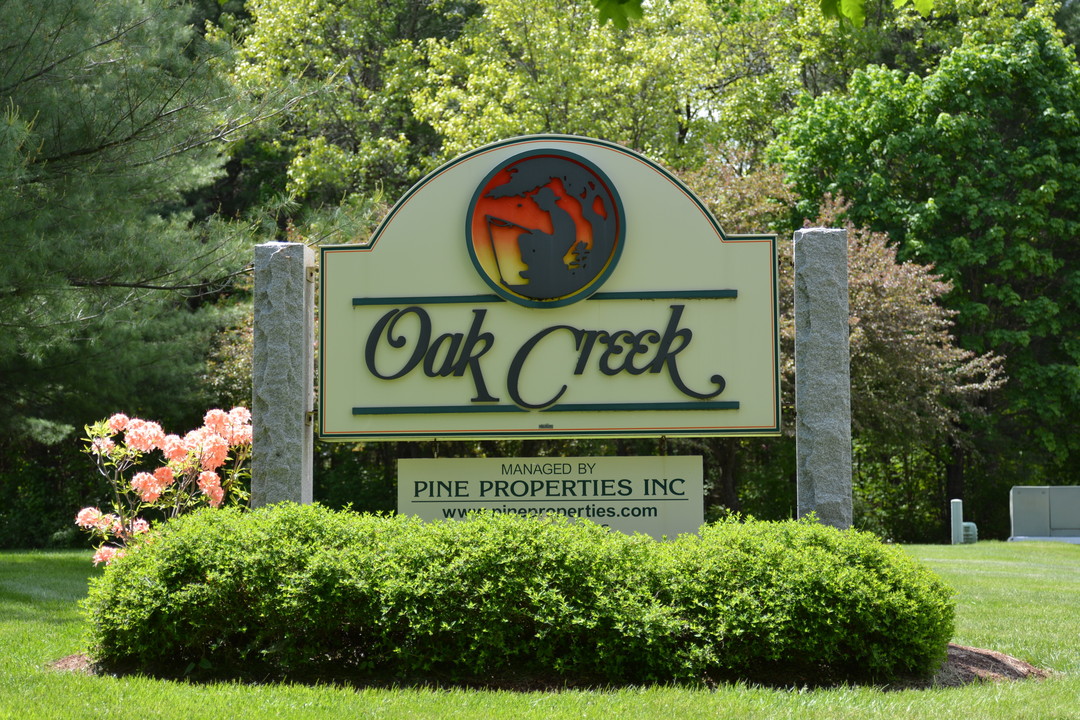
[[[842,86],[867,63],[924,67],[964,32],[1011,22],[1021,0],[939,4],[948,21],[873,0],[855,29],[783,0],[644,15],[640,0],[254,0],[235,78],[303,99],[234,148],[218,190],[226,206],[267,187],[308,206],[396,194],[438,159],[535,132],[696,166],[717,140],[760,148],[804,89]]]

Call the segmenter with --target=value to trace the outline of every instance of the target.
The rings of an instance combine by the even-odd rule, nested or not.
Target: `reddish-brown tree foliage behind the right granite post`
[[[715,148],[688,185],[729,232],[771,229],[791,236],[785,215],[795,193],[779,167],[752,172],[746,152]],[[827,198],[812,225],[848,232],[852,431],[883,447],[964,443],[962,417],[1004,382],[1001,357],[957,345],[955,310],[941,304],[951,289],[932,267],[900,261],[885,233],[855,227],[849,203]],[[783,405],[793,415],[795,308],[792,243],[778,244]],[[794,426],[794,418],[784,424]]]

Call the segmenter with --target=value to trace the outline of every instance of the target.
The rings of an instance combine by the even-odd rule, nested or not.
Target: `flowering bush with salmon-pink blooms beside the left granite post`
[[[247,408],[211,410],[202,427],[183,437],[166,435],[156,422],[117,413],[87,425],[84,440],[112,489],[111,513],[83,507],[75,519],[100,541],[94,565],[108,565],[132,539],[149,531],[144,514],[167,520],[203,505],[247,504]]]

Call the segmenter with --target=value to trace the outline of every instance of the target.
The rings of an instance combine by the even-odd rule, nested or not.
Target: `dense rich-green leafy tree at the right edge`
[[[953,284],[960,344],[1008,358],[982,471],[1005,483],[1065,481],[1080,450],[1078,118],[1080,67],[1034,16],[924,79],[856,73],[848,95],[806,103],[777,147],[804,210],[850,199],[855,223]]]

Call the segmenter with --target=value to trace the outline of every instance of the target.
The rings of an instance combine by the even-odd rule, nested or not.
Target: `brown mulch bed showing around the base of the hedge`
[[[62,657],[54,663],[50,663],[49,667],[54,670],[82,673],[84,675],[95,675],[97,671],[93,663],[90,662],[90,658],[82,654]],[[941,669],[932,678],[901,680],[888,685],[887,689],[959,688],[974,682],[1007,682],[1026,679],[1042,680],[1050,677],[1050,675],[1048,670],[1035,667],[1029,663],[1025,663],[1011,655],[1005,655],[1004,653],[949,643],[948,657],[942,663]],[[494,683],[495,687],[504,684],[508,687],[502,689],[528,691],[559,690],[567,687],[564,682],[555,687],[544,688],[542,685],[545,683],[541,682],[538,685],[534,682],[523,682],[521,679],[516,682]]]

